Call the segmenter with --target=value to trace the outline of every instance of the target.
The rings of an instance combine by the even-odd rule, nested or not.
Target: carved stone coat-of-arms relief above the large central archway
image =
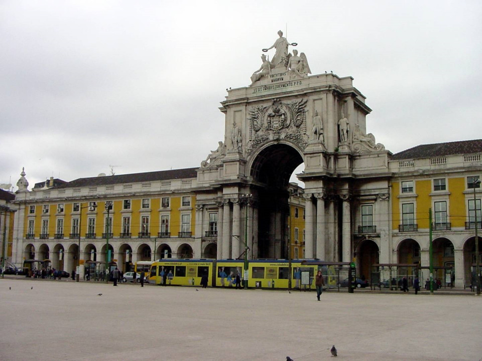
[[[251,154],[261,144],[273,139],[289,139],[304,149],[308,144],[306,103],[307,100],[303,99],[290,103],[273,99],[270,106],[252,107],[249,111],[250,139],[247,153]]]

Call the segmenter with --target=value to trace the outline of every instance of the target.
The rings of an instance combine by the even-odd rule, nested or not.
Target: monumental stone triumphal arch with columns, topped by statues
[[[388,262],[389,151],[367,133],[365,96],[349,76],[312,75],[308,53],[281,31],[260,50],[247,86],[221,102],[224,139],[198,170],[196,219],[216,211],[217,258],[240,257],[245,241],[250,259],[287,258],[289,179],[304,163],[305,257],[350,261],[351,225],[370,202],[382,225],[370,237]]]

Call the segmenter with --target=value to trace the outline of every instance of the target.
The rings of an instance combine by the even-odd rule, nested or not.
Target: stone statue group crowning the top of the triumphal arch
[[[267,48],[263,49],[263,52],[268,52],[271,49],[275,49],[275,55],[269,61],[266,55],[261,56],[261,67],[253,73],[251,76],[251,85],[261,80],[263,77],[271,74],[272,70],[286,70],[290,75],[290,79],[302,79],[306,78],[308,74],[311,74],[308,60],[305,53],[298,55],[298,50],[294,49],[293,54],[288,51],[289,46],[297,46],[297,43],[289,43],[286,38],[283,37],[283,32],[278,32],[279,38],[275,43]]]

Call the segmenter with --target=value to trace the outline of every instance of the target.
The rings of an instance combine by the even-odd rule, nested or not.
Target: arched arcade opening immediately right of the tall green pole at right
[[[450,283],[455,281],[453,243],[445,237],[436,238],[432,241],[432,253],[435,267],[434,279],[440,280],[443,286],[450,286]]]

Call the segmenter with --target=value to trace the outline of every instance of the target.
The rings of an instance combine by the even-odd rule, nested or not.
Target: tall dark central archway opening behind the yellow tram
[[[259,201],[257,214],[252,218],[253,231],[258,236],[257,244],[253,244],[254,259],[288,258],[288,252],[293,258],[302,256],[304,232],[293,224],[295,217],[290,219],[290,179],[303,164],[301,154],[294,146],[280,142],[263,148],[252,162],[250,173],[256,186],[251,191]],[[302,216],[299,214],[298,218]],[[295,252],[298,257],[294,257]]]

